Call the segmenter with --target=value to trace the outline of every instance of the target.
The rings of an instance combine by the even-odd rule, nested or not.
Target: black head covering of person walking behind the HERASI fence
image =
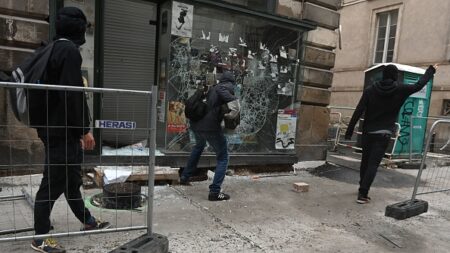
[[[61,8],[56,14],[56,38],[66,38],[78,46],[86,42],[87,20],[84,13],[76,7]]]

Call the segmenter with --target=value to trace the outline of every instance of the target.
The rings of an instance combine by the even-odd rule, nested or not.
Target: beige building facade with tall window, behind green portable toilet
[[[356,107],[364,71],[379,63],[438,63],[428,115],[450,116],[450,1],[344,0],[340,14],[332,105]]]

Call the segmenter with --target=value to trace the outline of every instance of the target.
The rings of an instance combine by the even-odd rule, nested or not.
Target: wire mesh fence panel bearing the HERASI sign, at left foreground
[[[152,233],[157,101],[155,86],[151,91],[135,91],[0,82],[0,89],[7,90],[9,94],[26,92],[27,109],[31,112],[26,114],[31,125],[17,121],[7,109],[4,117],[0,117],[3,122],[0,123],[0,242],[45,238],[49,235],[62,237],[144,229],[149,235]],[[129,106],[127,111],[121,107],[124,99],[132,103],[131,110]],[[88,103],[80,106],[77,101]],[[39,103],[39,108],[45,108],[44,110],[30,108],[30,104]],[[87,104],[96,106],[88,108]],[[114,108],[113,118],[101,118],[106,107]],[[137,112],[148,115],[145,122],[136,123]],[[33,118],[36,115],[39,117]],[[39,121],[39,118],[44,120]],[[74,118],[83,120],[74,122]],[[34,129],[38,129],[39,136]],[[92,159],[86,159],[87,151],[79,153],[79,148],[77,149],[81,145],[78,136],[88,130],[94,132],[97,147],[103,144],[103,134],[108,133],[110,136],[113,133],[116,138],[113,142],[109,141],[109,146],[121,147],[123,143],[119,142],[122,139],[120,136],[125,135],[131,143],[139,143],[142,150],[130,148],[127,155],[131,159],[127,163],[119,162],[119,159],[113,162],[111,159],[103,161],[102,155],[92,162]],[[42,140],[47,145],[43,145]],[[78,153],[80,157],[76,156]],[[116,157],[120,155],[116,154]],[[148,159],[134,159],[137,155]],[[52,179],[47,187],[49,192],[61,194],[57,201],[53,201],[55,196],[50,196],[50,193],[48,198],[35,199],[44,168],[45,176]],[[104,184],[102,189],[83,187],[81,196],[64,194],[77,189],[74,185],[77,184],[79,168],[82,168],[83,178],[89,175],[92,177],[91,173],[101,171],[103,177],[97,178],[97,182]],[[145,181],[145,185],[125,182],[127,175],[136,170],[146,171],[148,181]],[[64,176],[60,180],[53,180],[56,178],[53,173]],[[62,190],[57,190],[58,187],[62,187]],[[75,206],[80,203],[84,203],[96,219],[108,221],[112,226],[101,230],[80,231],[82,224],[86,223],[88,215],[84,214],[87,211],[84,210],[83,217],[78,218],[80,222],[71,210],[76,209]],[[47,204],[54,206],[52,230],[49,234],[35,236],[34,207]]]

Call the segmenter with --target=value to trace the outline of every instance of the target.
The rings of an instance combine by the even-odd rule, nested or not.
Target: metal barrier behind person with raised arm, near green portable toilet
[[[341,140],[341,136],[343,136],[345,134],[345,131],[347,129],[348,126],[348,122],[344,122],[345,119],[349,119],[351,118],[351,115],[353,114],[353,111],[355,110],[355,108],[352,107],[343,107],[343,106],[329,106],[328,108],[330,108],[330,110],[339,110],[339,111],[331,111],[330,115],[337,115],[338,116],[338,121],[337,122],[330,122],[331,127],[330,128],[335,128],[335,133],[332,133],[333,138],[331,138],[329,140],[329,142],[332,143],[332,148],[331,151],[337,151],[338,147],[346,147],[346,148],[351,148],[353,150],[358,150],[361,151],[362,148],[356,146],[356,142],[355,141],[346,141],[346,140]],[[347,111],[348,115],[345,115],[344,113],[340,112],[340,111]],[[360,121],[363,121],[364,119],[360,119]],[[385,156],[388,159],[392,159],[393,154],[394,154],[394,150],[395,147],[397,145],[397,141],[398,141],[398,137],[400,136],[400,129],[401,126],[399,123],[395,123],[395,125],[397,126],[396,128],[396,132],[394,134],[393,137],[391,137],[391,141],[392,144],[389,146],[389,150],[388,152],[385,153]],[[358,129],[359,126],[357,125],[355,127],[355,129]],[[334,132],[334,131],[333,131]],[[355,131],[354,132],[358,138],[358,136],[362,135],[361,131]]]

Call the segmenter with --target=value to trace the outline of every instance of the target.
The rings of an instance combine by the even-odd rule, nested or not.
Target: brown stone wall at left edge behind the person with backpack
[[[46,0],[0,0],[0,71],[10,72],[48,40],[48,13]],[[0,165],[41,163],[43,145],[36,131],[15,119],[7,95],[0,88]]]

